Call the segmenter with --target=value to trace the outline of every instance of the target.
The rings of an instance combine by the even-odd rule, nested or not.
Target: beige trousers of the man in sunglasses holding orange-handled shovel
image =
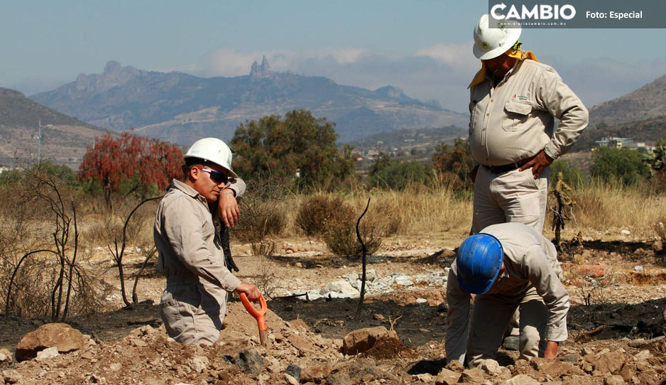
[[[168,283],[160,299],[160,317],[167,334],[185,345],[212,345],[219,338],[226,313],[201,283]]]

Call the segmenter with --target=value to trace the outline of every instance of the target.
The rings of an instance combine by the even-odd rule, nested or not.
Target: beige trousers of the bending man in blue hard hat
[[[525,295],[477,295],[471,314],[466,359],[470,368],[484,359],[495,359],[504,331],[515,310],[520,309],[520,358],[543,357],[548,309],[535,288]]]

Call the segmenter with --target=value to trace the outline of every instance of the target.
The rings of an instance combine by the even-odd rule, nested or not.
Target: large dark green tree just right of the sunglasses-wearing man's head
[[[340,151],[336,139],[333,124],[305,109],[288,112],[284,119],[271,115],[246,121],[231,139],[234,170],[245,178],[269,175],[297,186],[342,179],[354,173],[355,163],[351,147]]]

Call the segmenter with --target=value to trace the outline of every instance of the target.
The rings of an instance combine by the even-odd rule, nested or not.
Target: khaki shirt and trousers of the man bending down
[[[481,232],[495,236],[504,250],[504,271],[491,289],[474,298],[469,325],[471,295],[458,283],[454,262],[447,281],[447,361],[474,368],[493,359],[503,333],[520,307],[520,357],[542,356],[546,341],[567,340],[569,293],[557,278],[557,251],[532,227],[520,223],[494,224]]]

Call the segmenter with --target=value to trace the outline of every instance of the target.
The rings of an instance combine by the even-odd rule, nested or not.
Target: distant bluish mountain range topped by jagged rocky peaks
[[[468,117],[406,96],[396,87],[366,90],[326,77],[272,72],[263,60],[250,75],[202,78],[109,62],[102,74],[79,75],[37,102],[114,131],[189,145],[202,136],[231,139],[246,119],[310,109],[337,124],[340,141],[393,129],[459,125]]]

